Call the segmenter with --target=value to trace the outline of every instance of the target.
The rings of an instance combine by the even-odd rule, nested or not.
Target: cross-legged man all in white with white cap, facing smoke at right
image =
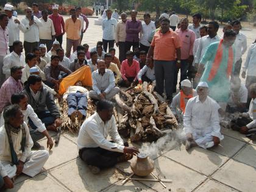
[[[224,138],[220,133],[219,105],[208,96],[208,84],[200,82],[197,86],[198,96],[188,100],[183,117],[186,134],[186,150],[191,146],[207,149],[217,146]]]

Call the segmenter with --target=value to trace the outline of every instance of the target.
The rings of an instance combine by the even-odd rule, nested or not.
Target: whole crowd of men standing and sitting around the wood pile
[[[53,146],[48,131],[62,126],[54,98],[67,102],[71,121],[85,120],[77,146],[79,157],[93,173],[138,154],[119,136],[111,101],[119,87],[144,81],[155,81],[155,91],[183,122],[187,150],[218,145],[224,138],[219,115],[226,113],[247,114],[249,120],[235,130],[255,139],[256,44],[249,47],[244,62],[243,85],[239,76],[247,40],[240,32],[240,21],[226,24],[218,37],[219,24],[210,21],[201,26],[199,13],[189,26],[188,19],[179,20],[175,12],[169,16],[165,11],[155,22],[146,13],[142,23],[136,10],[130,12],[130,19],[121,13],[119,20],[107,9],[102,41],[89,49],[88,44],[81,44],[89,24],[81,8],[71,9],[66,21],[58,9],[53,5],[48,16],[47,10],[39,11],[34,3],[19,21],[13,16],[13,6],[5,4],[5,13],[0,15],[0,188],[12,188],[12,179],[22,172],[33,177],[41,171],[48,152],[31,149],[40,149],[37,141],[43,137],[48,138],[49,149]],[[65,33],[66,52],[62,48]],[[174,96],[179,71],[180,91]],[[98,101],[97,109],[85,119],[88,99]],[[108,135],[113,141],[107,140]]]

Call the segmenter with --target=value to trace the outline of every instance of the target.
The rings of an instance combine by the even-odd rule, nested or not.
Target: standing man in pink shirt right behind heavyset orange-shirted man
[[[181,57],[180,57],[180,82],[184,79],[188,79],[187,72],[188,67],[192,65],[193,62],[193,46],[194,40],[196,40],[196,34],[194,34],[193,30],[188,29],[188,19],[182,18],[180,20],[180,29],[175,31],[179,37],[181,42]],[[176,74],[174,76],[174,93],[176,92],[177,85],[177,77],[179,73],[179,68],[176,70]],[[180,87],[180,86],[179,86]]]

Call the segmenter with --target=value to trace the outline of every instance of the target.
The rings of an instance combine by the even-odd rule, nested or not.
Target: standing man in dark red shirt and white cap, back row
[[[65,23],[63,17],[59,15],[59,5],[52,5],[52,15],[49,18],[52,20],[55,29],[55,39],[59,41],[60,47],[62,47],[62,39],[65,34]]]

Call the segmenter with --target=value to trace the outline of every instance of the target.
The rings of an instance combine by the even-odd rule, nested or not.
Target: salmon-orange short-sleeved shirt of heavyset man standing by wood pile
[[[171,29],[166,34],[158,30],[151,46],[154,47],[154,60],[172,61],[176,59],[176,49],[180,48],[180,37]]]

